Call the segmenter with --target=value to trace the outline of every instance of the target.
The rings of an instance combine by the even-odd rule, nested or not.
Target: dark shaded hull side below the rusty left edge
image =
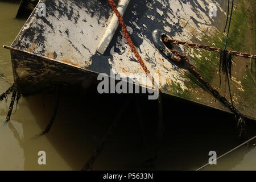
[[[55,85],[82,85],[97,73],[11,48],[14,82],[23,96],[51,92]]]

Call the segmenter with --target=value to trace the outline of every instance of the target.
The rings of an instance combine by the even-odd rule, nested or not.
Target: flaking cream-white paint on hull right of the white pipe
[[[152,3],[153,2],[153,3]],[[154,9],[154,3],[160,2],[163,5],[163,8],[166,8],[167,13],[164,14],[162,10],[159,10],[158,8]],[[208,1],[209,2],[209,1]],[[168,3],[171,3],[172,6],[168,6]],[[201,40],[201,38],[210,31],[210,34],[213,34],[217,28],[212,26],[212,22],[210,21],[207,13],[192,8],[190,2],[181,2],[181,1],[151,1],[146,2],[146,6],[148,7],[148,11],[146,11],[145,16],[150,21],[157,21],[156,16],[152,11],[156,11],[160,16],[164,16],[162,22],[166,23],[166,26],[164,26],[164,30],[167,32],[171,32],[170,23],[172,26],[180,26],[183,28],[182,32],[175,32],[174,38],[189,41],[193,37],[196,37],[197,39]],[[204,8],[209,5],[207,2],[200,1],[200,5]],[[191,17],[195,18],[198,24],[193,22]],[[184,22],[182,24],[181,22]],[[159,20],[158,20],[159,22]],[[180,24],[177,24],[179,23]],[[142,27],[138,25],[137,19],[131,20],[131,24],[134,25],[136,28],[134,34],[138,37],[140,37],[143,41],[141,43],[141,46],[139,46],[138,50],[140,51],[140,54],[144,60],[150,59],[152,63],[148,63],[147,61],[145,64],[147,65],[147,68],[150,70],[151,74],[154,73],[161,73],[160,75],[160,85],[165,86],[166,78],[170,78],[176,85],[180,85],[181,89],[188,90],[187,86],[184,85],[185,79],[183,78],[183,70],[174,68],[175,65],[172,65],[169,61],[164,59],[162,55],[159,54],[159,52],[155,51],[154,45],[150,43],[150,40],[142,34],[142,27],[147,28],[147,24],[142,24]],[[133,34],[133,35],[134,35]],[[122,35],[122,34],[121,34]],[[117,49],[118,52],[115,52],[114,50]],[[122,72],[122,64],[128,65],[130,64],[131,59],[135,59],[133,55],[131,55],[130,49],[127,51],[129,47],[127,47],[126,40],[124,36],[122,35],[122,38],[118,38],[118,42],[115,44],[115,46],[112,47],[110,53],[114,56],[115,61],[110,61],[110,64],[113,68],[116,69],[117,72]],[[127,51],[127,52],[126,52]],[[156,52],[159,54],[161,61],[154,61],[158,60],[156,59]],[[192,55],[193,57],[194,55]],[[199,55],[196,55],[199,56]],[[119,61],[121,60],[121,61]],[[155,62],[155,63],[154,63]],[[154,65],[155,64],[155,65]],[[139,67],[140,65],[137,63],[135,67]],[[127,69],[128,72],[134,72],[135,69]]]

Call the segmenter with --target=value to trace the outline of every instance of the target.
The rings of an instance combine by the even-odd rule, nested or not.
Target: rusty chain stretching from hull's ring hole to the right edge
[[[181,45],[187,46],[187,47],[205,49],[207,51],[222,52],[222,49],[218,48],[218,47],[203,46],[203,45],[197,44],[197,43],[182,42],[180,40],[175,40],[175,39],[170,39],[170,38],[164,38],[164,42],[169,42],[172,44],[181,44]],[[238,51],[227,50],[227,53],[230,55],[234,55],[234,56],[256,59],[256,55],[251,55],[250,53],[247,53],[247,52],[238,52]]]

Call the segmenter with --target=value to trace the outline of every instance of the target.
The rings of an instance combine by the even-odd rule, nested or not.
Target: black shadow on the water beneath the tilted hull
[[[158,105],[156,100],[147,100],[146,95],[137,95],[146,130],[146,148],[141,144],[134,97],[94,163],[94,169],[196,169],[208,162],[209,151],[214,150],[220,156],[239,144],[232,114],[164,95],[164,138],[156,163],[144,165],[143,162],[154,155],[151,149],[155,142]],[[72,169],[80,170],[84,166],[126,98],[127,94],[98,94],[96,86],[86,91],[73,88],[61,91],[55,123],[46,136]],[[54,94],[46,94],[44,102],[43,108],[42,96],[34,96],[30,105],[42,131],[54,109]],[[246,124],[247,137],[254,136],[256,122],[246,119]],[[23,128],[26,138],[26,125]],[[237,158],[237,163],[240,160],[242,156]]]

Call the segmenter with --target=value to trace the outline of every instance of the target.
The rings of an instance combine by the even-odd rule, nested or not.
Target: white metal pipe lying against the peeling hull
[[[129,5],[129,2],[130,0],[120,0],[117,10],[122,16],[125,13],[126,7]],[[100,52],[101,54],[104,54],[104,52],[106,51],[106,48],[108,48],[109,43],[111,42],[115,34],[115,31],[117,30],[118,24],[119,24],[118,18],[114,13],[97,47],[97,51]]]

